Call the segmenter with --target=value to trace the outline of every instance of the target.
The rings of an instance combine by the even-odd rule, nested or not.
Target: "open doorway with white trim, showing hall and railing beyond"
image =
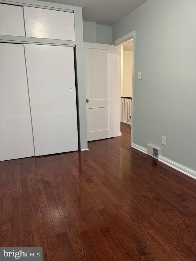
[[[135,30],[112,42],[115,45],[115,135],[133,130]],[[130,128],[131,127],[131,128]]]

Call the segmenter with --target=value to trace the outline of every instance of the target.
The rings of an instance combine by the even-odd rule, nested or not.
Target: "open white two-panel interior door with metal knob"
[[[115,47],[84,43],[88,141],[115,136]]]

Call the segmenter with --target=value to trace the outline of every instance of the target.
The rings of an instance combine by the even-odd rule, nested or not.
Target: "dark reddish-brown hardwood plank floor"
[[[0,246],[43,260],[196,260],[196,180],[130,147],[0,162]]]

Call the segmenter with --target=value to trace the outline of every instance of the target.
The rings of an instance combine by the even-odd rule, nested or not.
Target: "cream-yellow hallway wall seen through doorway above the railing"
[[[132,95],[132,75],[133,75],[133,51],[123,50],[123,88],[122,96]]]

